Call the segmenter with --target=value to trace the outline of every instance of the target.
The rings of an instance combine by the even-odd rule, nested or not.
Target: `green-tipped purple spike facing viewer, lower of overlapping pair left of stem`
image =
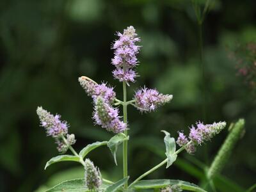
[[[123,132],[127,128],[127,125],[119,119],[118,109],[109,106],[102,97],[95,99],[93,119],[95,124],[115,133]]]

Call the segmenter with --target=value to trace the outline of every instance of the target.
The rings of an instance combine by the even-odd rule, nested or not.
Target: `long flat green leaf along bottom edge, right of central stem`
[[[140,180],[134,186],[135,189],[156,189],[165,188],[167,186],[178,185],[181,189],[188,191],[206,192],[204,189],[199,188],[195,184],[183,180],[171,179],[155,179],[155,180]]]

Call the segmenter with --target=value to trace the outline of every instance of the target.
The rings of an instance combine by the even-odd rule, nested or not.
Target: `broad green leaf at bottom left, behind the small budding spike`
[[[108,188],[109,184],[103,182],[100,186],[100,189],[103,191]],[[45,191],[45,192],[87,192],[90,191],[85,187],[84,179],[72,179],[61,182],[60,184],[54,186],[53,188]]]

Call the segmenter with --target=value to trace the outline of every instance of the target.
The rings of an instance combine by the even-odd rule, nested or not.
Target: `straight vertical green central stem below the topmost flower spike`
[[[126,83],[123,82],[123,90],[124,90],[124,105],[123,105],[123,113],[124,113],[124,123],[127,124],[127,93],[126,93]],[[128,136],[127,129],[124,131],[124,134]],[[127,148],[128,148],[128,140],[125,140],[123,143],[123,172],[124,178],[128,176],[128,163],[127,163]],[[128,188],[128,183],[125,182],[124,189]]]

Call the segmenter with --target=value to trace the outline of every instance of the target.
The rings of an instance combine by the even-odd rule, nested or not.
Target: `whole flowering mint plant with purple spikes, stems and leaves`
[[[89,77],[79,77],[78,81],[89,97],[93,100],[93,115],[92,118],[96,125],[99,125],[106,131],[113,132],[115,136],[109,141],[97,141],[87,145],[79,153],[74,150],[72,145],[76,143],[74,134],[68,134],[67,122],[61,120],[60,115],[52,115],[42,107],[36,110],[40,119],[40,125],[45,128],[47,136],[52,136],[57,144],[57,149],[61,154],[64,154],[69,149],[71,155],[60,155],[50,159],[45,168],[53,163],[60,161],[76,161],[81,163],[84,167],[84,179],[68,180],[55,186],[49,191],[137,191],[141,189],[152,189],[154,191],[182,191],[186,189],[189,191],[204,191],[195,184],[184,182],[181,180],[141,180],[148,174],[157,170],[157,168],[166,164],[166,168],[171,166],[177,159],[177,156],[182,150],[186,150],[189,154],[196,151],[198,145],[202,145],[205,141],[211,140],[218,134],[226,125],[225,122],[218,122],[213,124],[203,124],[196,122],[189,129],[189,135],[186,136],[182,131],[179,132],[177,140],[170,136],[170,133],[163,131],[165,134],[164,143],[166,145],[166,159],[154,166],[147,172],[143,173],[138,179],[128,184],[127,172],[127,143],[129,141],[128,131],[130,125],[127,124],[127,106],[131,105],[137,108],[141,113],[148,113],[156,111],[157,108],[172,100],[172,95],[164,95],[159,93],[156,89],[140,88],[136,90],[132,100],[127,100],[126,88],[130,83],[134,83],[136,77],[135,68],[138,65],[136,55],[140,51],[141,46],[138,45],[140,38],[136,34],[135,29],[129,26],[124,29],[124,33],[117,33],[118,40],[115,40],[112,49],[114,49],[114,58],[111,63],[115,66],[113,76],[118,81],[122,82],[124,95],[123,100],[116,98],[116,93],[113,87],[106,83],[97,84]],[[120,115],[118,108],[123,107],[123,114]],[[93,149],[107,145],[113,154],[116,163],[116,150],[118,145],[123,143],[123,172],[124,177],[118,182],[103,179],[100,175],[100,170],[93,162],[85,158],[86,155]],[[179,149],[176,149],[176,143]]]

